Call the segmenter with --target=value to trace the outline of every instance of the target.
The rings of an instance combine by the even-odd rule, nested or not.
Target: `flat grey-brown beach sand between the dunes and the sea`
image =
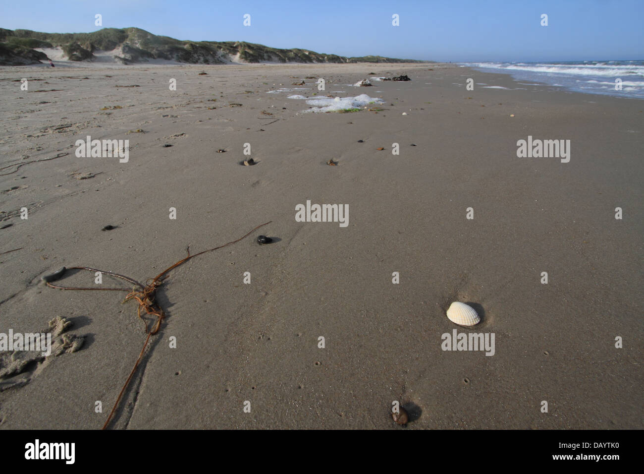
[[[393,400],[413,408],[408,429],[644,428],[641,101],[453,64],[3,67],[0,90],[0,166],[69,153],[0,177],[0,252],[21,248],[0,255],[0,332],[63,317],[84,338],[0,380],[0,428],[99,429],[145,340],[126,293],[42,275],[143,282],[267,221],[170,273],[111,428],[400,429]],[[314,92],[386,110],[287,99]],[[86,135],[129,139],[128,163],[76,157]],[[569,163],[518,158],[528,135],[569,139]],[[239,164],[246,143],[256,166]],[[348,225],[296,222],[307,200],[348,204]],[[455,326],[452,301],[482,322]],[[442,350],[454,329],[494,333],[494,355]]]

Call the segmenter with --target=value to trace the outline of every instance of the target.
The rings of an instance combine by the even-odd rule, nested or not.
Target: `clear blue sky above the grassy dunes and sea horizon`
[[[644,59],[644,0],[4,0],[0,27],[50,33],[137,26],[345,56],[435,61]],[[243,15],[251,26],[243,26]],[[400,26],[392,26],[398,14]],[[540,25],[542,14],[548,26]]]

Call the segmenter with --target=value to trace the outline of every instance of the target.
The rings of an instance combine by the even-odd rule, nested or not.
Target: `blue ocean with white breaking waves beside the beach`
[[[511,74],[526,84],[544,83],[574,92],[644,99],[644,61],[561,63],[460,63],[482,72]],[[621,90],[616,85],[621,81]]]

